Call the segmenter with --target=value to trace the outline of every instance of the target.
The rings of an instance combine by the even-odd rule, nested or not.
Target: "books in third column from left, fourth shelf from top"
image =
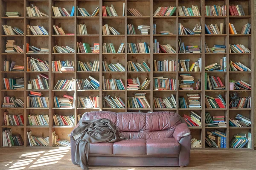
[[[52,61],[52,71],[75,71],[74,61]]]

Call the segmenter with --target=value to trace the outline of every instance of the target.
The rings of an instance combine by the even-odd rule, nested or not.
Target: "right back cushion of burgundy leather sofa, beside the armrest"
[[[146,138],[172,138],[181,118],[175,112],[153,112],[146,114]]]

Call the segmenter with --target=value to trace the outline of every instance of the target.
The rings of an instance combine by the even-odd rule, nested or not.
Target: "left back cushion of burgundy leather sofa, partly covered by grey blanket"
[[[110,111],[91,111],[84,113],[82,120],[108,119],[113,125],[116,125],[116,113]]]

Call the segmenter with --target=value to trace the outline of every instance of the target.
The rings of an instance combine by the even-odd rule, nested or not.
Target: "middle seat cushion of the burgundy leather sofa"
[[[113,144],[113,154],[115,155],[145,155],[145,139],[128,139],[115,142]]]

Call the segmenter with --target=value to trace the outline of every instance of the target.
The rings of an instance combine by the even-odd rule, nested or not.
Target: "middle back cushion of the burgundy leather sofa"
[[[146,139],[146,113],[117,113],[119,136],[128,139]]]

